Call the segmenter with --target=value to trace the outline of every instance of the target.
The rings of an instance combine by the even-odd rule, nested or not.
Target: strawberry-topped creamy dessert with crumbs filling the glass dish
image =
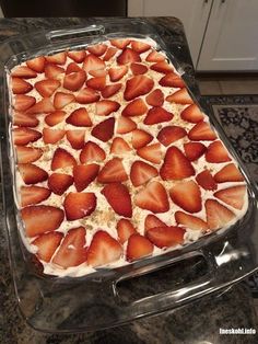
[[[12,69],[21,237],[44,273],[83,276],[189,244],[246,213],[246,183],[152,39]]]

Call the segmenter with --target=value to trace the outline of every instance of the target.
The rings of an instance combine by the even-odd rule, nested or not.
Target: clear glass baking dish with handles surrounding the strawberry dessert
[[[116,326],[141,317],[175,309],[186,302],[230,286],[258,267],[257,188],[212,114],[211,124],[239,164],[248,188],[248,210],[231,228],[200,238],[180,250],[137,261],[119,268],[98,268],[83,277],[57,278],[38,273],[21,242],[19,215],[13,200],[12,154],[9,145],[9,92],[7,77],[14,66],[37,55],[82,48],[110,37],[150,37],[166,51],[176,69],[180,64],[155,28],[143,20],[96,21],[94,25],[40,31],[15,37],[2,47],[10,56],[4,66],[1,164],[5,232],[20,309],[34,329],[52,332],[85,332]],[[191,94],[197,103],[194,94]],[[178,278],[179,276],[179,278]],[[157,285],[159,280],[159,285]]]

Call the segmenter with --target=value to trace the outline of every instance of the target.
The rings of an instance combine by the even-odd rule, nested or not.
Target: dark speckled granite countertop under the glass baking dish
[[[105,19],[103,19],[105,21]],[[190,55],[181,23],[174,18],[149,19],[163,39],[169,43],[188,73],[190,89],[198,94]],[[0,42],[38,28],[63,28],[91,24],[94,19],[1,19]],[[9,54],[9,51],[7,51]],[[1,50],[0,62],[4,60]],[[1,200],[2,205],[2,200]],[[2,213],[1,213],[2,214]],[[239,283],[220,294],[199,299],[175,311],[134,321],[119,328],[85,334],[44,334],[30,328],[19,312],[9,268],[7,241],[0,217],[0,343],[257,343],[255,335],[220,335],[220,328],[247,328],[258,331],[258,320],[250,291]]]

